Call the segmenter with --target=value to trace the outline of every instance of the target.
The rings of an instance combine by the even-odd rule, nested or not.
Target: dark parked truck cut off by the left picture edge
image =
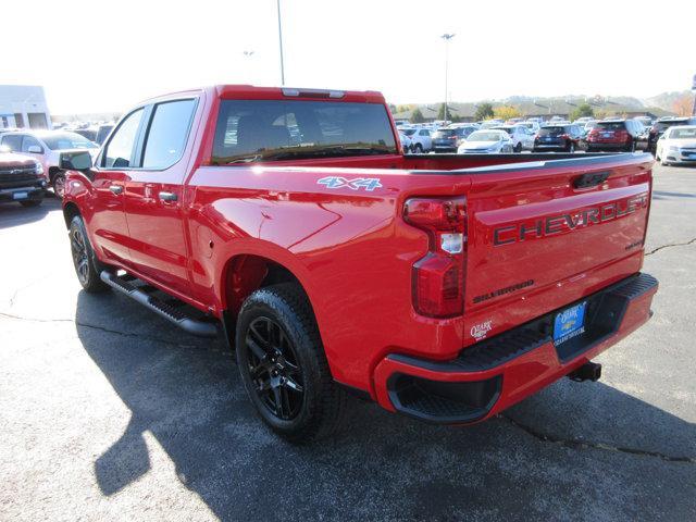
[[[46,176],[38,161],[0,148],[0,203],[38,207],[45,188]]]

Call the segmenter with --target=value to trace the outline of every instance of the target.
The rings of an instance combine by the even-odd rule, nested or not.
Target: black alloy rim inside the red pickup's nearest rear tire
[[[258,318],[247,328],[245,345],[247,369],[261,403],[277,419],[295,419],[304,400],[303,376],[283,327],[270,318]]]

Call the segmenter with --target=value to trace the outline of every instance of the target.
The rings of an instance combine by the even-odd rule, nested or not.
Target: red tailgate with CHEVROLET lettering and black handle
[[[614,154],[467,171],[468,340],[637,272],[651,165],[649,154]]]

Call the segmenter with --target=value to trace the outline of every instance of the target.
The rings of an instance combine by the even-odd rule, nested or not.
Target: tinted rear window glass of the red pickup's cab
[[[395,153],[378,103],[223,100],[212,164]]]

